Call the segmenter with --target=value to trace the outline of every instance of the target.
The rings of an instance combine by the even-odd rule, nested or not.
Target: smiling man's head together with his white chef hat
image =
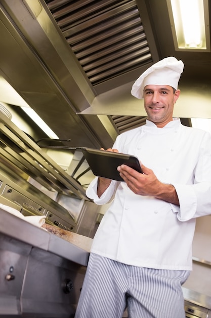
[[[132,95],[144,98],[148,119],[159,128],[173,120],[174,104],[180,96],[178,81],[183,68],[181,60],[164,58],[147,69],[132,87]]]

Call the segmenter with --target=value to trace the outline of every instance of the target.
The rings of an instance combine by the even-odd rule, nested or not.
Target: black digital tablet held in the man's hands
[[[120,165],[129,166],[143,173],[139,160],[134,155],[86,147],[82,147],[81,151],[95,176],[124,181],[117,171]]]

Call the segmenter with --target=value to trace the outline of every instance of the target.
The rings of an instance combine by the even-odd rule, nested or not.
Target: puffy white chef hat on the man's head
[[[184,63],[177,58],[173,56],[163,58],[139,76],[133,84],[132,95],[138,99],[143,99],[146,85],[169,85],[177,89],[183,68]]]

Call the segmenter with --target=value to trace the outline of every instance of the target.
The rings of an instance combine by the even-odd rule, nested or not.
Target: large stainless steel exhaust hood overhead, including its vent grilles
[[[175,51],[165,0],[3,0],[0,18],[0,75],[73,147],[110,147],[111,115],[144,118],[131,86],[166,56],[185,63],[175,115],[211,117],[211,55]]]

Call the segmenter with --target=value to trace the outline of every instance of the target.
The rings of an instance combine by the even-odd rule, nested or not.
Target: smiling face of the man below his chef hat
[[[144,87],[144,108],[148,119],[159,128],[173,120],[174,104],[180,96],[180,90],[168,85],[147,85]]]

